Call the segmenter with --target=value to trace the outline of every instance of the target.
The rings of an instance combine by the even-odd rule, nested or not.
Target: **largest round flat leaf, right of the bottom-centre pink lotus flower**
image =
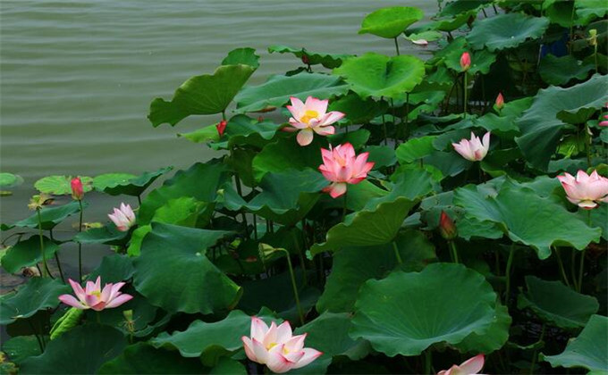
[[[393,272],[359,289],[350,337],[363,337],[390,357],[418,355],[433,344],[483,335],[494,320],[495,300],[486,279],[461,264]]]

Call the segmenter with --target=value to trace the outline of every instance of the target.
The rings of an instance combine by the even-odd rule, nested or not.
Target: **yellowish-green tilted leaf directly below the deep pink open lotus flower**
[[[325,242],[312,246],[310,254],[314,256],[345,246],[375,246],[392,242],[415,204],[415,201],[399,197],[393,202],[378,204],[372,210],[356,212],[347,218],[348,222],[329,229]]]

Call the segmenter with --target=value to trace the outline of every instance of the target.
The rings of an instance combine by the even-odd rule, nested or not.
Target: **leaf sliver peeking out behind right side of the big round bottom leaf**
[[[490,354],[500,349],[509,339],[511,328],[511,315],[509,309],[502,304],[496,304],[494,320],[483,335],[471,333],[456,347],[462,352]]]

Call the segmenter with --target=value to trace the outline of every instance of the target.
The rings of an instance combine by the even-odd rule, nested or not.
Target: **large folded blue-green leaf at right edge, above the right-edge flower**
[[[562,137],[562,121],[587,121],[604,106],[606,86],[608,78],[595,74],[576,86],[539,90],[530,108],[516,121],[522,135],[515,141],[528,162],[545,171]]]

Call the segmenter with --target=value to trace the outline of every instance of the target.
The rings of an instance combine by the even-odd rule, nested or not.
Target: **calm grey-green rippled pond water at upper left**
[[[30,214],[33,183],[52,174],[140,173],[205,160],[207,146],[175,137],[216,117],[153,129],[146,116],[156,96],[169,99],[192,75],[210,73],[233,48],[251,46],[261,66],[249,80],[298,66],[282,44],[311,51],[393,54],[393,41],[358,35],[363,17],[381,6],[432,0],[306,1],[7,1],[0,4],[0,168],[25,183],[2,197],[1,220]],[[401,51],[411,45],[402,40]],[[88,196],[85,221],[105,221],[124,197]],[[133,203],[133,202],[131,202]],[[69,228],[64,236],[68,236]],[[89,266],[101,249],[86,249]],[[73,265],[73,249],[62,251]]]

